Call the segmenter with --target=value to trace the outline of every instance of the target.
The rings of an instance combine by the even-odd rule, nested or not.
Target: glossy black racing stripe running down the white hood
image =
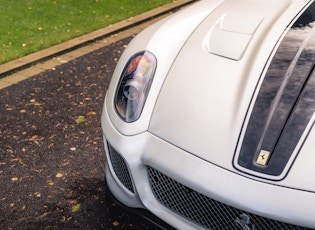
[[[315,3],[287,32],[259,90],[250,115],[239,166],[279,176],[315,111]],[[261,151],[270,153],[258,164]]]

